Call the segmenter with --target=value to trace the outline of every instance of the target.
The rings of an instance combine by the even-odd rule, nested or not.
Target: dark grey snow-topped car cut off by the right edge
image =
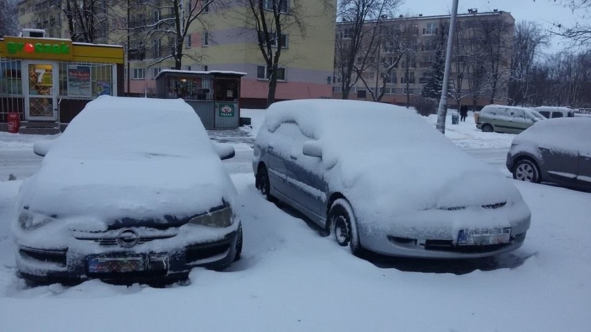
[[[591,118],[534,125],[513,139],[506,165],[517,180],[591,189]]]

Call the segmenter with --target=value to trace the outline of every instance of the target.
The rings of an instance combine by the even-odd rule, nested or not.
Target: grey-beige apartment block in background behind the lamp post
[[[447,44],[449,15],[396,17],[380,22],[394,31],[410,33],[413,44],[406,49],[397,66],[386,72],[388,64],[393,63],[399,53],[388,36],[382,37],[382,45],[372,54],[361,75],[366,81],[356,79],[352,73],[352,85],[349,98],[373,100],[369,89],[377,92],[385,89],[381,101],[406,105],[415,105],[421,97],[425,74],[431,68],[438,45]],[[375,24],[375,22],[368,22]],[[337,30],[340,37],[348,37],[347,22],[339,22]],[[477,12],[458,15],[456,38],[454,40],[454,58],[450,74],[448,105],[472,105],[474,108],[490,103],[506,103],[508,85],[506,82],[511,69],[511,49],[515,19],[508,12]],[[388,30],[388,31],[393,31]],[[444,32],[442,34],[442,32]],[[336,51],[338,52],[338,50]],[[445,55],[445,50],[443,50]],[[337,57],[339,55],[337,54]],[[363,61],[363,55],[357,55],[357,62]],[[375,58],[375,59],[374,59]],[[386,76],[386,85],[382,85]],[[333,98],[342,98],[343,84],[339,71],[335,69],[333,79]]]

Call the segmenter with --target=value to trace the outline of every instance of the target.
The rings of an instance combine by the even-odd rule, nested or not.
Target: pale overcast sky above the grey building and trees
[[[442,15],[452,10],[452,0],[406,0],[401,12],[413,15]],[[477,8],[479,12],[493,9],[511,12],[515,21],[536,21],[549,28],[553,22],[570,25],[577,17],[571,10],[556,5],[552,0],[459,0],[458,13],[468,12],[468,8]],[[563,49],[564,43],[553,38],[547,51],[555,52]]]

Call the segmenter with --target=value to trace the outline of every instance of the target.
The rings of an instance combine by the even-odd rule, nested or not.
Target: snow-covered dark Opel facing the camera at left
[[[237,191],[184,101],[100,96],[26,179],[12,227],[29,281],[168,281],[238,259]]]

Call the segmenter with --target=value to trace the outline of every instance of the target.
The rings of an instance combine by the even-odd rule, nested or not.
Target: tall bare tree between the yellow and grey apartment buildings
[[[337,5],[335,67],[343,99],[376,59],[384,21],[393,17],[400,0],[341,0]]]

